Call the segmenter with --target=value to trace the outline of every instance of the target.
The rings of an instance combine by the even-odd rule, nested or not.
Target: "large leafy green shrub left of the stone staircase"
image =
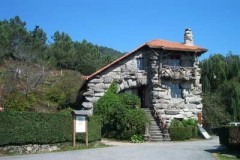
[[[117,94],[113,83],[103,97],[94,104],[94,114],[103,122],[102,135],[108,138],[130,140],[134,134],[144,134],[148,119],[140,108],[138,97]]]

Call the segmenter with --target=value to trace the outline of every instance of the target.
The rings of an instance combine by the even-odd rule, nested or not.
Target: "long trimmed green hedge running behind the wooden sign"
[[[60,113],[6,111],[0,113],[0,146],[72,141],[72,116]],[[83,141],[77,134],[76,139]],[[101,139],[101,122],[89,118],[89,141]]]

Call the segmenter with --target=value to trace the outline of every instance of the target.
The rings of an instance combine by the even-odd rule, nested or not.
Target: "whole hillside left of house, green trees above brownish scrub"
[[[79,37],[81,38],[81,37]],[[50,112],[74,107],[82,75],[122,56],[87,40],[73,41],[41,27],[29,31],[18,16],[0,21],[0,109]]]

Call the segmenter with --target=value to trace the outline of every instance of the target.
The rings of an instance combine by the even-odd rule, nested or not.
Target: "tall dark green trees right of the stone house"
[[[240,121],[240,56],[215,54],[202,61],[201,68],[205,126]]]

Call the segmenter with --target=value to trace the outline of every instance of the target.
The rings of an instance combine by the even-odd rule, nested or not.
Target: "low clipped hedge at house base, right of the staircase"
[[[192,128],[189,127],[170,127],[169,128],[169,134],[171,137],[171,140],[173,141],[181,141],[181,140],[187,140],[192,137]]]

